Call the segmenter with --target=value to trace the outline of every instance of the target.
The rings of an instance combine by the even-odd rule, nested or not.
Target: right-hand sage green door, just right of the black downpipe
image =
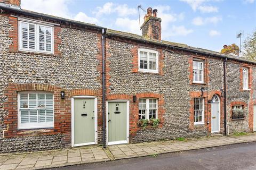
[[[108,103],[108,144],[126,142],[126,102]]]

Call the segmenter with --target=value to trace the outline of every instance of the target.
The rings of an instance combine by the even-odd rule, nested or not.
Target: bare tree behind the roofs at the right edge
[[[256,31],[245,39],[243,56],[248,60],[256,61]]]

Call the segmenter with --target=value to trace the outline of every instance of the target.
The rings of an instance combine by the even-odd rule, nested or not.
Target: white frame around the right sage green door
[[[126,102],[126,140],[124,141],[114,141],[114,142],[108,142],[108,103],[111,102]],[[107,128],[107,138],[106,138],[106,142],[107,145],[118,145],[118,144],[124,144],[124,143],[129,143],[129,126],[130,126],[130,101],[129,100],[108,100],[106,101],[106,128]]]

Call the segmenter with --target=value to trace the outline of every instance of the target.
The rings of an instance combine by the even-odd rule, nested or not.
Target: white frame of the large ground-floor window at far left
[[[42,123],[21,123],[21,109],[20,109],[20,94],[52,94],[49,91],[21,91],[18,92],[18,129],[40,129],[40,128],[53,128],[54,127],[54,95],[52,96],[52,109],[53,109],[53,122],[42,122]],[[29,99],[28,99],[29,100]],[[45,103],[46,104],[46,103]],[[28,104],[29,105],[29,104]],[[36,97],[37,105],[37,97]],[[39,109],[38,107],[33,109]],[[42,108],[41,108],[42,109]],[[51,108],[49,108],[51,109]],[[38,114],[37,114],[38,115]],[[46,117],[45,117],[46,118]]]

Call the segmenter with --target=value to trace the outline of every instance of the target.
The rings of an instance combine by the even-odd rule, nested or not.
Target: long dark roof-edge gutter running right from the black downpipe
[[[171,47],[173,49],[183,50],[183,51],[186,51],[186,52],[197,53],[197,54],[201,54],[201,55],[209,55],[209,56],[219,57],[219,58],[226,58],[226,59],[228,58],[230,60],[235,60],[235,61],[239,61],[239,62],[246,62],[246,63],[256,64],[256,62],[254,62],[254,61],[245,60],[245,59],[242,59],[242,58],[235,58],[235,57],[228,56],[228,55],[218,55],[218,54],[213,54],[213,53],[201,52],[201,51],[195,50],[195,49],[182,48],[182,47],[177,47],[177,46],[173,46],[173,45],[164,44],[164,43],[157,42],[157,41],[150,41],[150,40],[145,40],[145,39],[128,37],[128,36],[119,35],[117,33],[112,33],[112,32],[107,32],[106,36],[107,37],[108,36],[110,36],[110,37],[111,36],[116,36],[116,37],[126,38],[126,39],[130,39],[130,40],[140,41],[141,43],[150,43],[150,44],[154,44],[154,45],[158,45],[158,46],[164,46],[164,47],[166,47],[166,49]]]

